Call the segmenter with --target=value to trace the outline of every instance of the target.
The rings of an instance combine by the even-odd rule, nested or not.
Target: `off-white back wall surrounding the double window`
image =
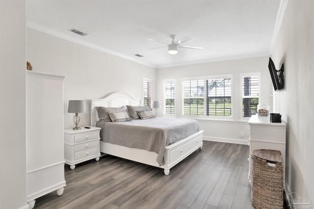
[[[163,99],[163,80],[175,79],[176,116],[181,117],[181,78],[232,74],[234,90],[233,120],[219,121],[201,119],[199,122],[201,128],[204,130],[204,139],[246,144],[249,139],[248,118],[241,117],[240,74],[261,72],[261,94],[259,101],[260,103],[268,103],[271,107],[272,83],[268,70],[268,59],[269,57],[256,57],[157,69],[157,99],[160,101]],[[159,114],[162,112],[163,110],[158,111]],[[244,133],[243,138],[240,137],[241,132]]]

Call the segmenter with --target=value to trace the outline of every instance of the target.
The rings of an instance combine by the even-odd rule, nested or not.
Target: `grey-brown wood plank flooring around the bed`
[[[248,183],[249,147],[204,141],[165,176],[157,167],[106,155],[65,165],[62,196],[36,199],[35,209],[254,209]]]

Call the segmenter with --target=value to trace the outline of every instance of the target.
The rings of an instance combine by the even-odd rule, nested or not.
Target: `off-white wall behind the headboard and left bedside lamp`
[[[65,75],[64,128],[73,128],[69,100],[86,100],[80,127],[90,124],[90,99],[113,92],[143,99],[143,78],[152,79],[155,96],[156,70],[105,52],[27,28],[27,61],[34,71]]]

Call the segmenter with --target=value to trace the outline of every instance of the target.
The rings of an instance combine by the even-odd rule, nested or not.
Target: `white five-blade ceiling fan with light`
[[[190,40],[192,37],[189,36],[185,36],[184,38],[178,40],[175,42],[175,38],[176,35],[170,35],[170,38],[172,39],[171,44],[168,44],[166,42],[163,41],[158,41],[155,39],[149,39],[151,41],[155,41],[155,42],[159,42],[161,44],[166,44],[166,46],[160,46],[160,47],[156,47],[156,48],[162,48],[162,47],[167,47],[168,46],[168,53],[169,54],[176,54],[178,53],[178,48],[193,48],[193,49],[202,49],[203,47],[197,47],[197,46],[185,46],[185,45],[181,45],[184,42]],[[155,48],[151,48],[151,49],[155,49]]]

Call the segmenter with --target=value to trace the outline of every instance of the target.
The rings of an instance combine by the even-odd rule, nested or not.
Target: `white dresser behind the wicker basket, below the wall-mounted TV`
[[[250,125],[250,156],[249,180],[251,176],[251,153],[256,149],[279,150],[284,159],[284,183],[286,169],[286,123],[272,123],[269,116],[252,116],[248,122]]]

